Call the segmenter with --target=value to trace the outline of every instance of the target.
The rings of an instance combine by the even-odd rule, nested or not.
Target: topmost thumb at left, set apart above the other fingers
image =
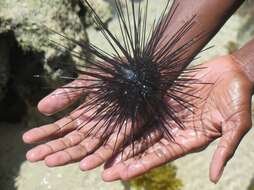
[[[45,115],[52,115],[65,109],[84,93],[85,85],[85,79],[77,79],[55,90],[39,102],[38,110]]]

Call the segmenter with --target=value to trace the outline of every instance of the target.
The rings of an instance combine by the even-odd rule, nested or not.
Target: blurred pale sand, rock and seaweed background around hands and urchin
[[[119,34],[112,2],[91,1],[103,22]],[[152,22],[166,0],[150,2],[149,21]],[[210,42],[215,47],[202,53],[195,63],[230,53],[254,37],[253,18],[254,0],[249,0]],[[23,132],[64,114],[42,116],[36,104],[51,89],[66,83],[60,75],[75,77],[75,68],[85,65],[85,60],[57,50],[49,39],[61,40],[70,50],[81,52],[82,49],[45,30],[44,26],[80,42],[91,41],[102,49],[108,48],[79,0],[0,0],[0,190],[254,189],[254,130],[243,139],[217,185],[208,180],[216,142],[202,153],[186,156],[130,183],[104,183],[100,179],[101,168],[81,172],[77,164],[50,169],[43,163],[28,163],[25,152],[30,147],[21,141]],[[34,78],[34,75],[43,77]]]

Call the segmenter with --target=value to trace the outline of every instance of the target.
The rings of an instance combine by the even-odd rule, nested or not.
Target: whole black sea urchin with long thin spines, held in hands
[[[195,69],[186,67],[192,60],[188,49],[206,34],[201,32],[183,45],[176,46],[194,26],[195,16],[167,39],[165,31],[170,27],[178,4],[173,2],[167,11],[170,7],[168,0],[160,18],[155,20],[148,30],[149,0],[145,1],[144,8],[140,2],[134,0],[114,0],[123,41],[121,43],[91,4],[87,0],[81,2],[91,11],[94,22],[113,53],[108,53],[92,43],[83,44],[59,34],[95,58],[86,59],[85,69],[79,70],[79,74],[85,77],[78,80],[85,81],[87,85],[69,87],[73,91],[82,90],[88,94],[86,102],[77,110],[81,110],[78,117],[87,113],[89,117],[83,119],[78,129],[95,122],[94,127],[86,132],[86,136],[99,136],[102,144],[108,142],[112,133],[117,133],[117,137],[120,132],[123,133],[124,140],[118,150],[123,150],[126,144],[134,145],[135,140],[143,138],[142,134],[154,128],[173,140],[172,128],[184,128],[179,110],[192,112],[193,104],[190,99],[199,98],[185,90],[189,88],[189,84],[196,82],[191,75]],[[63,47],[59,43],[52,43]],[[81,60],[85,59],[83,54],[73,51],[71,53]],[[115,139],[115,144],[117,140],[118,138]]]

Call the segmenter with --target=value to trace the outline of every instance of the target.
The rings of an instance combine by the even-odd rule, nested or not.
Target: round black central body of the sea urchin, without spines
[[[155,101],[163,97],[156,64],[150,60],[140,61],[144,62],[120,65],[119,75],[107,85],[112,97],[116,97],[119,108],[124,109],[128,117],[137,112],[144,118],[149,114],[149,106],[155,108]]]

